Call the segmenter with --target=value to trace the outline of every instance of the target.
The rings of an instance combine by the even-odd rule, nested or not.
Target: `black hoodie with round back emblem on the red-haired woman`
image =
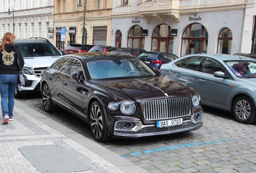
[[[18,56],[21,57],[21,67],[24,65],[24,59],[21,50],[13,44],[4,44],[6,52],[0,52],[0,74],[19,74]]]

